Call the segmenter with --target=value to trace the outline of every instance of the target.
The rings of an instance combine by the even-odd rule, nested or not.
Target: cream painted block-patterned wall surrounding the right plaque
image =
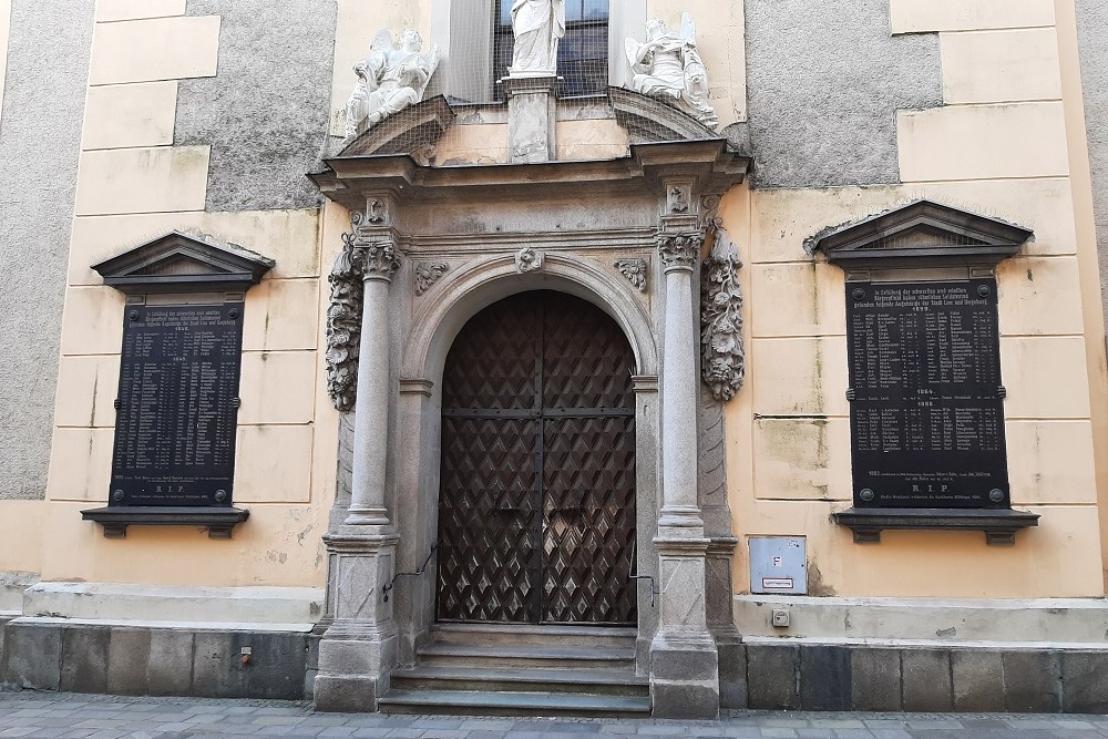
[[[1084,193],[1071,179],[1075,132],[1058,51],[1061,43],[1064,58],[1068,31],[1054,28],[1053,1],[891,6],[894,32],[940,31],[946,95],[944,107],[900,115],[904,184],[725,201],[725,224],[743,235],[748,264],[748,379],[728,409],[742,542],[736,591],[749,587],[747,537],[802,535],[814,595],[1101,596],[1095,460],[1104,452],[1095,451],[1090,397],[1100,397],[1102,368],[1087,342],[1100,304],[1083,288],[1097,275],[1086,259],[1095,243],[1078,223]],[[1035,230],[997,273],[1013,503],[1043,516],[1014,547],[986,546],[979,532],[885,532],[880,544],[858,545],[830,521],[852,497],[845,286],[802,243],[919,197]]]

